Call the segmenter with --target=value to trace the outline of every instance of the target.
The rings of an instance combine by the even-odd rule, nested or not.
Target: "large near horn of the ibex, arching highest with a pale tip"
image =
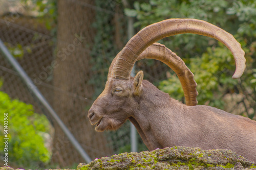
[[[164,37],[183,33],[204,35],[221,41],[236,60],[237,68],[232,78],[237,79],[242,76],[246,60],[240,43],[221,28],[198,19],[167,19],[145,27],[133,36],[118,53],[113,60],[113,70],[109,76],[113,79],[128,80],[134,63],[148,46]]]

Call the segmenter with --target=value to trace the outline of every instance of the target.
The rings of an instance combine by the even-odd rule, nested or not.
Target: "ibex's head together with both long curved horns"
[[[179,66],[178,60],[170,61],[168,58],[170,55],[176,55],[168,48],[160,44],[152,46],[154,42],[164,37],[183,33],[212,37],[225,44],[236,60],[237,69],[233,78],[241,77],[245,69],[244,51],[231,34],[208,22],[197,19],[167,19],[154,23],[131,38],[112,61],[105,89],[88,113],[91,124],[97,124],[95,128],[97,131],[118,129],[126,119],[132,119],[136,112],[146,107],[146,104],[141,105],[142,101],[151,100],[152,105],[161,107],[159,100],[161,100],[162,95],[159,94],[161,93],[160,90],[151,83],[143,81],[142,71],[139,71],[135,78],[130,77],[134,63],[142,58],[158,59],[176,70],[184,89],[187,105],[197,104],[197,84],[184,62],[179,60],[182,65]]]

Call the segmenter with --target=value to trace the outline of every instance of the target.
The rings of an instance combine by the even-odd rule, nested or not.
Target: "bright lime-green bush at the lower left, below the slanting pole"
[[[47,163],[50,153],[44,145],[42,135],[49,131],[45,115],[34,113],[33,106],[18,100],[11,100],[8,94],[0,91],[0,127],[4,127],[4,113],[8,113],[8,160],[25,167],[31,164]],[[3,141],[3,130],[0,138]],[[4,148],[4,143],[0,143]],[[4,150],[0,151],[5,154]]]

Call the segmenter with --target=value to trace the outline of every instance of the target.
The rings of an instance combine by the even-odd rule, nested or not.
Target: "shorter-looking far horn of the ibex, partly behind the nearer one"
[[[194,80],[194,74],[187,68],[184,61],[177,56],[177,54],[169,50],[169,48],[165,47],[163,44],[154,43],[141,53],[138,60],[145,58],[159,60],[172,68],[181,82],[186,105],[195,106],[198,104],[197,83]]]

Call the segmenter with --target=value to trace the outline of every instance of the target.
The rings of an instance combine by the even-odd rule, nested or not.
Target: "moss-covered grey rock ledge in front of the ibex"
[[[77,166],[86,169],[256,169],[256,163],[228,150],[174,147],[122,153]]]

